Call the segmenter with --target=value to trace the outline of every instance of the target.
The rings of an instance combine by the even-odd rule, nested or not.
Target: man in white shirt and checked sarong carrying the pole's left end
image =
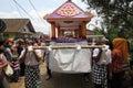
[[[32,41],[25,42],[25,50],[22,51],[19,59],[24,62],[24,82],[25,88],[39,88],[40,69],[39,62],[42,57],[41,50],[32,50]]]

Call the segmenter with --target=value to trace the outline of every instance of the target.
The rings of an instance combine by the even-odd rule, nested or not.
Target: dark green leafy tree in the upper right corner
[[[109,38],[133,38],[133,0],[82,0],[103,18],[101,31]]]

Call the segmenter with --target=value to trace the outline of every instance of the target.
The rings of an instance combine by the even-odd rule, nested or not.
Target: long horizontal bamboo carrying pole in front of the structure
[[[33,50],[44,50],[49,46],[33,46]],[[50,46],[52,50],[59,50],[59,48],[76,48],[78,46],[72,45],[64,45],[64,46]],[[81,48],[101,48],[102,45],[80,45]]]

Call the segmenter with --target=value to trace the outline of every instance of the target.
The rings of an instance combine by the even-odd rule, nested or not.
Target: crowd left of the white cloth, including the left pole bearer
[[[42,58],[42,51],[29,48],[33,45],[40,45],[40,42],[0,40],[0,88],[10,88],[9,84],[18,82],[20,76],[24,76],[25,88],[39,88],[39,63]],[[7,65],[12,67],[12,76],[4,74],[3,69]]]

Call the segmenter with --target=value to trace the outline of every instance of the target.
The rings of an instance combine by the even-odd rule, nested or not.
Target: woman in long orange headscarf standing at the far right
[[[122,80],[124,76],[123,65],[127,64],[127,41],[123,37],[116,37],[112,42],[112,81],[111,88],[122,88]]]

